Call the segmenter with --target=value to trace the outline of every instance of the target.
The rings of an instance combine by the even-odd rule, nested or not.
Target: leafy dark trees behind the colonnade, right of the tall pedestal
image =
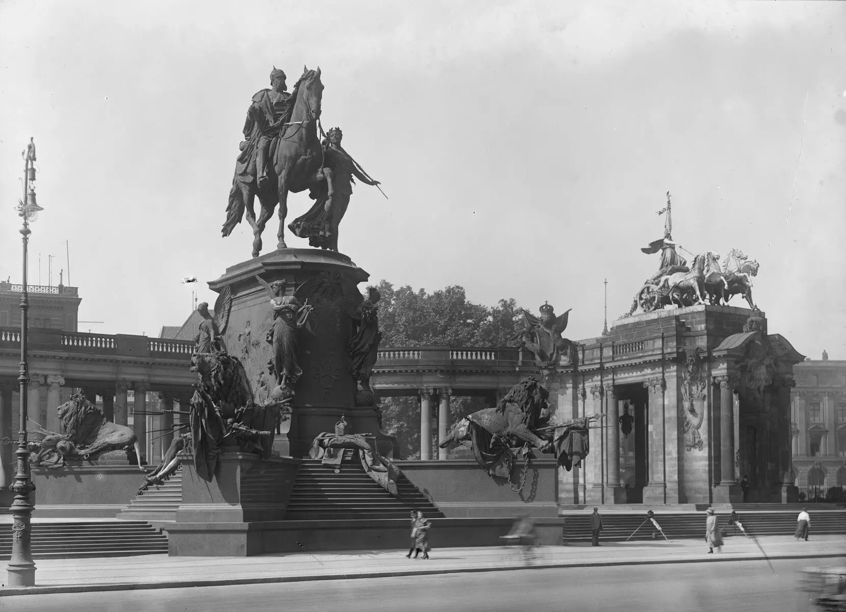
[[[514,299],[499,300],[493,307],[474,304],[459,285],[427,294],[409,285],[394,289],[393,284],[382,280],[378,289],[382,295],[379,330],[384,348],[504,346],[523,323]],[[450,423],[485,407],[485,398],[453,396]],[[381,408],[385,433],[397,438],[404,458],[419,459],[420,398],[384,398]],[[436,438],[437,433],[432,436],[432,456],[437,456]]]

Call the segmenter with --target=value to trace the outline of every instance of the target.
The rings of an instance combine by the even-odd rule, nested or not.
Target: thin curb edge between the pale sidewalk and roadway
[[[355,580],[360,578],[393,578],[404,576],[437,576],[442,574],[464,574],[482,573],[490,571],[514,571],[514,570],[551,570],[555,568],[571,567],[610,567],[614,565],[670,565],[681,563],[725,563],[729,561],[758,561],[758,560],[786,560],[786,559],[827,559],[843,557],[843,553],[817,553],[817,554],[782,554],[765,557],[761,554],[751,557],[711,557],[706,559],[687,558],[673,560],[634,560],[634,561],[563,561],[560,563],[541,563],[537,565],[504,565],[484,567],[461,567],[451,569],[431,570],[394,570],[394,571],[368,571],[354,574],[336,572],[333,574],[320,574],[310,576],[267,576],[259,578],[222,578],[217,580],[180,580],[172,582],[116,582],[101,584],[80,584],[80,585],[55,585],[49,587],[3,587],[0,588],[0,597],[14,595],[46,595],[56,593],[99,593],[107,591],[147,591],[160,588],[190,588],[190,587],[228,587],[247,584],[275,584],[279,582],[310,582],[318,580]]]

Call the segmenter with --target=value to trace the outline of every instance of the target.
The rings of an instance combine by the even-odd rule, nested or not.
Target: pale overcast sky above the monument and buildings
[[[20,279],[32,135],[30,281],[41,253],[58,283],[69,240],[80,320],[105,322],[80,328],[179,325],[189,275],[213,303],[206,281],[250,257],[246,223],[220,236],[250,97],[307,64],[323,124],[390,198],[355,185],[341,226],[372,281],[549,300],[595,336],[602,280],[610,321],[656,271],[640,247],[669,190],[685,248],[761,263],[771,333],[846,359],[844,33],[844,3],[5,0],[0,277]]]

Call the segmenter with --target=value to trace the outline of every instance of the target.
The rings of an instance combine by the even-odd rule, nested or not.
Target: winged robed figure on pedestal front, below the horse
[[[284,280],[267,284],[263,278],[255,278],[270,295],[273,325],[267,332],[267,342],[273,346],[272,366],[278,389],[273,389],[271,396],[281,399],[280,392],[288,397],[294,393],[294,383],[303,373],[297,361],[297,334],[301,328],[312,332],[311,305],[308,300],[303,304],[296,296],[285,295],[288,283]]]

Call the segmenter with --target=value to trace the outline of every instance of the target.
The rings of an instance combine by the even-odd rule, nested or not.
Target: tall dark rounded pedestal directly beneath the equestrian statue
[[[368,274],[340,253],[284,249],[229,267],[209,283],[214,291],[228,287],[232,292],[223,342],[228,353],[244,364],[255,401],[264,403],[276,386],[268,370],[272,345],[266,340],[273,318],[271,296],[256,276],[267,284],[284,280],[288,295],[308,300],[314,308],[310,315],[314,334],[303,328],[297,339],[302,375],[294,385],[294,416],[283,423],[274,449],[280,455],[307,455],[311,441],[319,433],[334,431],[343,415],[354,433],[375,434],[379,450],[387,455],[393,442],[379,431],[374,406],[356,405],[357,383],[349,372],[353,329],[349,313],[363,300],[357,285]]]

